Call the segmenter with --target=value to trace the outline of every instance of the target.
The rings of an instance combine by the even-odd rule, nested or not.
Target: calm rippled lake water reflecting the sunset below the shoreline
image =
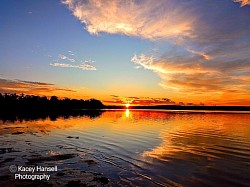
[[[111,186],[250,186],[250,114],[120,110],[0,121],[0,148],[2,184],[13,178],[10,165],[40,162],[75,177],[101,173]],[[53,157],[63,154],[74,156]]]

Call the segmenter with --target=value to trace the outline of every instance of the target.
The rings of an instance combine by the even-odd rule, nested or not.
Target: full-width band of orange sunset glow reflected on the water
[[[144,157],[163,158],[193,147],[219,145],[222,139],[250,141],[250,114],[172,113],[166,111],[113,110],[99,117],[58,118],[56,121],[37,120],[22,123],[0,121],[0,135],[23,132],[25,134],[63,134],[98,132],[100,135],[123,135],[147,138],[154,134],[161,143],[144,151]],[[197,151],[197,150],[196,150]]]

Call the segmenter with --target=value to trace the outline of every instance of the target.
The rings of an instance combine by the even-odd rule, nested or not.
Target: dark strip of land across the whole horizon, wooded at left
[[[151,109],[151,110],[209,110],[209,111],[250,111],[250,106],[189,106],[189,105],[153,105],[153,106],[129,106],[129,109]],[[97,99],[59,99],[57,96],[47,98],[45,96],[24,94],[1,94],[1,115],[10,113],[57,113],[71,110],[93,110],[93,109],[126,109],[126,106],[104,105]]]

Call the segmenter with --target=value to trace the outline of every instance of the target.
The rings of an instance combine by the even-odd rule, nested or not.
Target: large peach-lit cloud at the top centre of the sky
[[[147,39],[189,36],[192,17],[187,9],[169,0],[64,0],[73,15],[94,35],[106,32]],[[189,19],[186,19],[189,17]]]

